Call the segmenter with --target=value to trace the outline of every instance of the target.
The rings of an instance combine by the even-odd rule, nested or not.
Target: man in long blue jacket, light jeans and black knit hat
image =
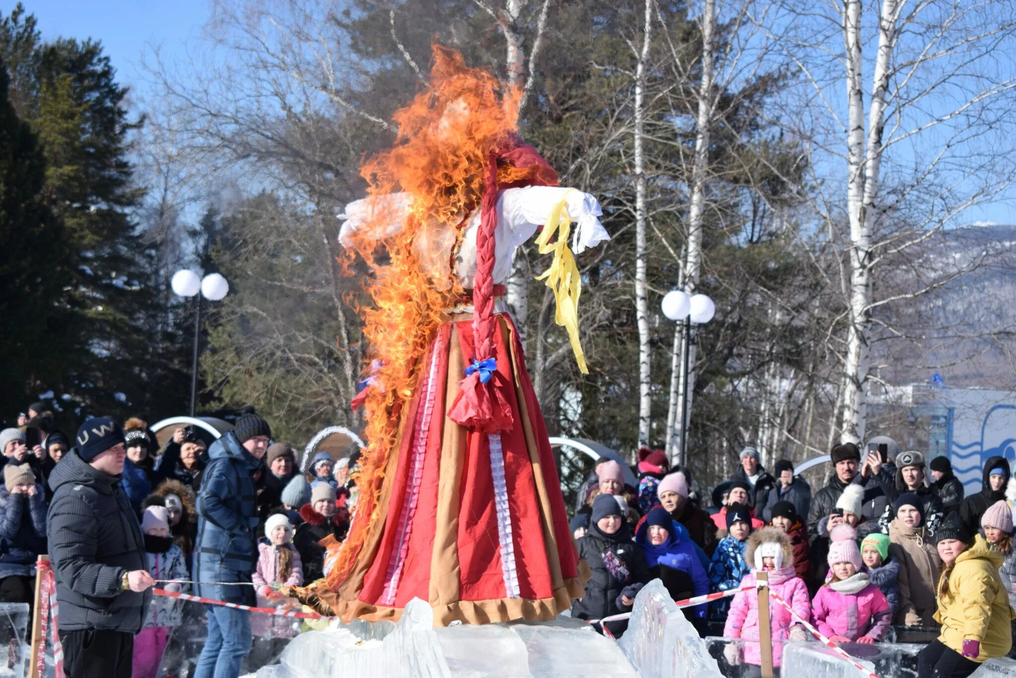
[[[208,465],[197,496],[196,581],[250,582],[257,565],[257,489],[271,429],[253,413],[208,448]],[[197,595],[228,603],[256,605],[250,585],[198,584]],[[194,678],[237,678],[251,649],[250,613],[208,605],[208,639]]]

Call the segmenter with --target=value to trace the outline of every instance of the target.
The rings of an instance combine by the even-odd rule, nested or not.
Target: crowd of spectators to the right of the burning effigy
[[[826,484],[812,491],[787,460],[775,475],[754,447],[702,506],[686,468],[642,449],[637,487],[617,460],[598,464],[571,521],[592,572],[572,615],[612,635],[639,590],[659,578],[674,600],[736,592],[684,608],[703,636],[744,642],[724,651],[743,676],[761,675],[757,572],[792,608],[770,607],[774,641],[811,637],[807,620],[834,642],[882,640],[890,626],[939,629],[918,657],[918,676],[962,678],[1010,655],[1016,634],[1016,479],[1001,456],[988,459],[979,492],[964,497],[949,459],[926,463],[891,438],[830,452]],[[1007,492],[1008,490],[1008,492]],[[746,589],[746,587],[748,587]],[[773,643],[773,665],[782,660]]]

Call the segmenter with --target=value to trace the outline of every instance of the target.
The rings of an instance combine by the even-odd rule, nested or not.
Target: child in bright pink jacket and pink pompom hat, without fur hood
[[[815,594],[815,625],[833,642],[875,642],[892,624],[889,602],[861,570],[861,551],[853,528],[833,528],[829,545],[831,577]]]

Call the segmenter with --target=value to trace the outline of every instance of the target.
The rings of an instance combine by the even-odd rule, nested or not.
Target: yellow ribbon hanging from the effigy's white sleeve
[[[565,197],[568,193],[565,193]],[[557,235],[555,242],[551,239]],[[541,254],[554,253],[551,265],[537,275],[536,280],[547,280],[547,287],[554,292],[557,302],[557,313],[554,320],[568,331],[578,369],[582,374],[588,374],[585,366],[585,353],[578,337],[578,297],[582,292],[582,278],[575,265],[575,255],[568,248],[568,237],[571,235],[571,218],[565,209],[565,198],[551,208],[551,213],[544,225],[544,231],[536,238]]]

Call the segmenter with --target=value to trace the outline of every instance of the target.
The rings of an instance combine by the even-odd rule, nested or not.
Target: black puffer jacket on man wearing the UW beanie
[[[92,469],[72,449],[53,470],[50,486],[47,535],[60,630],[137,633],[151,593],[120,590],[125,571],[147,566],[141,526],[120,476]]]

